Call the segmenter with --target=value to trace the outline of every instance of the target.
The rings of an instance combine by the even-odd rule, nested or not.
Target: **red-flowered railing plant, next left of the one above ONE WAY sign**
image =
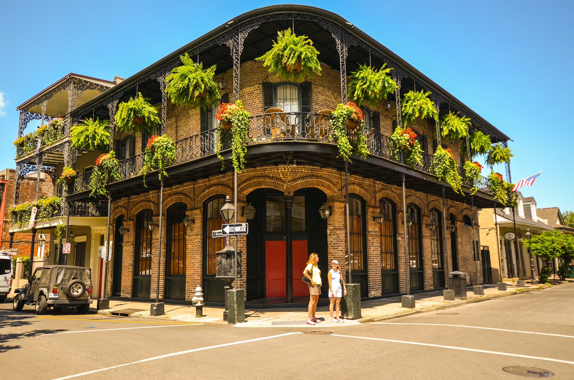
[[[157,176],[161,180],[162,176],[168,176],[165,168],[173,164],[176,159],[177,148],[168,135],[150,137],[144,150],[144,165],[139,170],[139,174],[144,175],[144,186],[147,187],[145,176],[150,170],[158,170]]]

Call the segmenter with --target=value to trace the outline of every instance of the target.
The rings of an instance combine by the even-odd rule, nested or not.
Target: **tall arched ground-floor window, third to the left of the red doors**
[[[149,297],[152,274],[152,210],[142,210],[135,216],[134,297]]]

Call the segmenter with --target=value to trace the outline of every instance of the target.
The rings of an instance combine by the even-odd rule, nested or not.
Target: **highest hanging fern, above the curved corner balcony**
[[[263,61],[263,67],[269,67],[281,79],[288,82],[303,82],[305,74],[321,75],[321,65],[317,59],[319,52],[313,47],[313,41],[307,36],[297,36],[291,28],[277,32],[277,42],[265,55],[256,58]]]

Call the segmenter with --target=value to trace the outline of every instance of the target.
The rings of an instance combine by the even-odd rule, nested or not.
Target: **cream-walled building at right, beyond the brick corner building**
[[[510,207],[502,210],[499,208],[483,209],[478,212],[480,244],[483,262],[486,261],[484,273],[487,282],[505,281],[512,278],[531,279],[530,255],[528,246],[525,245],[526,231],[530,231],[533,235],[540,235],[544,231],[554,229],[553,226],[546,224],[546,220],[541,219],[538,214],[540,210],[537,210],[536,200],[533,197],[523,198],[522,193],[517,192],[517,203],[518,207],[515,208],[514,215]],[[516,233],[517,240],[505,239],[507,232]],[[536,276],[538,276],[542,262],[536,256],[533,257],[533,262]]]

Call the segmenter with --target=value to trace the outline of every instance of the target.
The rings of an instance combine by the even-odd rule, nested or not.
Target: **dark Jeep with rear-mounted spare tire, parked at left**
[[[87,313],[92,303],[92,270],[81,266],[45,265],[34,272],[28,284],[14,292],[14,311],[26,305],[35,305],[36,314],[75,307],[78,313]]]

